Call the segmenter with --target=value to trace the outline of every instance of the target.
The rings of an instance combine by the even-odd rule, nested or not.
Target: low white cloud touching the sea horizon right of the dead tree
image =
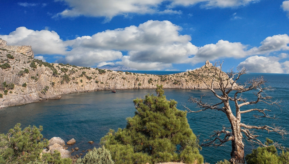
[[[277,57],[251,56],[242,61],[239,66],[245,66],[249,72],[284,73],[282,64]],[[288,70],[288,69],[287,69]]]

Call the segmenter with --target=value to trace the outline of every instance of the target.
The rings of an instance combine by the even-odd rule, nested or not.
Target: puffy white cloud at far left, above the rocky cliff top
[[[0,35],[7,45],[30,45],[35,54],[64,54],[66,46],[55,31],[34,31],[18,27],[9,35]]]

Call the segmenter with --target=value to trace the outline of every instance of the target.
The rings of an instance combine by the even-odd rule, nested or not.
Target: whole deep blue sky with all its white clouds
[[[289,0],[8,0],[0,10],[0,38],[49,63],[289,73]]]

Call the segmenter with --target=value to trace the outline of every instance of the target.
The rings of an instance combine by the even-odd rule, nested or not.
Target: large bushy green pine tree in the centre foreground
[[[156,92],[157,96],[135,99],[135,116],[127,118],[126,128],[110,130],[101,144],[117,164],[203,163],[186,111],[178,110],[175,100],[166,99],[162,85],[157,85]]]

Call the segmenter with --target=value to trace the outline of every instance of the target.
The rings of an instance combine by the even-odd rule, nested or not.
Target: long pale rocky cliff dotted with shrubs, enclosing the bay
[[[171,75],[136,74],[34,59],[31,46],[7,46],[0,40],[0,107],[23,105],[62,94],[97,90],[163,88],[206,89],[196,70]],[[210,62],[199,72],[210,70]],[[224,73],[224,76],[227,76]],[[204,75],[206,77],[206,75]],[[218,88],[218,82],[214,83]]]

